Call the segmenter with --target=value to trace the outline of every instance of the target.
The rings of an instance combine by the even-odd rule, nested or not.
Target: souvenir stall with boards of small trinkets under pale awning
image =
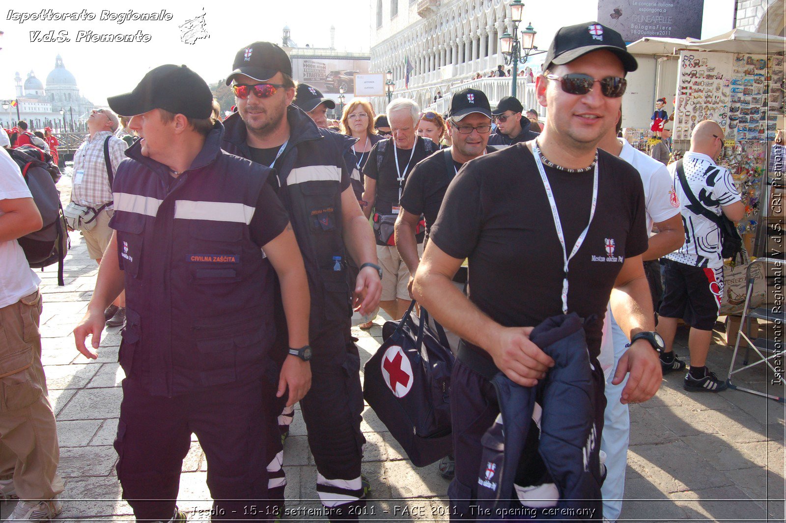
[[[647,59],[656,64],[655,78],[660,81],[649,107],[658,109],[657,102],[663,98],[674,101],[671,110],[666,108],[674,119],[674,160],[689,149],[696,123],[714,120],[722,127],[724,149],[718,164],[729,168],[742,194],[746,217],[739,229],[750,254],[766,249],[766,238],[759,235],[758,249],[755,240],[760,211],[769,197],[769,146],[775,138],[777,118],[784,114],[784,47],[784,38],[740,29],[712,39],[641,39],[628,46],[640,68]],[[665,76],[676,76],[675,87],[663,85],[664,68],[672,68]],[[635,103],[646,106],[645,99]],[[641,115],[637,118],[644,120]],[[653,142],[649,123],[644,120],[626,128],[626,138],[630,135],[633,140],[629,142],[645,151]]]

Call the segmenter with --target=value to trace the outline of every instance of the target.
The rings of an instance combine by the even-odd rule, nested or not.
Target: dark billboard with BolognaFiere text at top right
[[[701,38],[704,0],[598,0],[597,21],[626,42],[648,36]]]

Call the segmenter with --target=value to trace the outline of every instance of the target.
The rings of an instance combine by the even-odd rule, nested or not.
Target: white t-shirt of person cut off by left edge
[[[2,130],[0,130],[2,131]],[[0,200],[31,198],[17,162],[0,148]],[[2,215],[0,211],[0,215]],[[17,303],[35,293],[41,280],[35,275],[16,240],[0,241],[0,308]]]

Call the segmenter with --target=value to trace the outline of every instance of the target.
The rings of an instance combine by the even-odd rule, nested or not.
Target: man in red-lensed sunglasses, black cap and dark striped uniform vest
[[[354,305],[365,315],[379,304],[381,269],[373,232],[352,190],[343,142],[292,105],[295,83],[284,50],[270,42],[245,46],[237,52],[226,83],[232,84],[237,113],[224,122],[222,146],[275,169],[270,182],[303,251],[311,293],[314,374],[300,407],[317,465],[317,492],[332,521],[357,519],[365,506],[360,474],[365,438],[351,309]],[[354,285],[347,285],[347,256],[359,269]],[[281,451],[270,455],[269,486],[271,495],[283,499],[281,438],[277,443]]]

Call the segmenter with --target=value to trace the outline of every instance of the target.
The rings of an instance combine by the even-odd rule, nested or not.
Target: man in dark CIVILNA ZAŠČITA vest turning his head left
[[[103,311],[125,288],[123,498],[138,521],[185,521],[175,500],[195,433],[213,520],[272,520],[264,442],[277,433],[275,397],[288,389],[293,404],[310,386],[310,297],[287,213],[265,183],[270,169],[222,151],[210,89],[185,65],[152,69],[108,101],[133,115],[141,139],[117,167],[115,232],[74,333],[79,352],[96,358],[86,336],[97,349]],[[287,356],[274,354],[276,275]]]

